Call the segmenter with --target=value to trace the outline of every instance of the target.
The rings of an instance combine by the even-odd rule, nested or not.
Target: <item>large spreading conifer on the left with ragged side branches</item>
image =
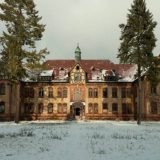
[[[1,61],[13,87],[27,76],[26,68],[34,70],[41,66],[47,50],[37,51],[36,41],[41,40],[45,26],[40,23],[33,0],[4,0],[0,3],[0,21],[5,25],[0,36]]]

